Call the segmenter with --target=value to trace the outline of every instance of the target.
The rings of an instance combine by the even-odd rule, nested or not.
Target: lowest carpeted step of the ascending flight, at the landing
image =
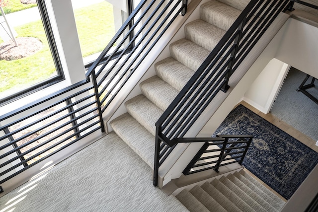
[[[155,137],[125,113],[110,122],[114,132],[154,169]]]

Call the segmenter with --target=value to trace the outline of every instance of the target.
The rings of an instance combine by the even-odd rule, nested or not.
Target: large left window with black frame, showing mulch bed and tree
[[[8,1],[0,16],[0,104],[64,79],[44,0],[22,7]]]

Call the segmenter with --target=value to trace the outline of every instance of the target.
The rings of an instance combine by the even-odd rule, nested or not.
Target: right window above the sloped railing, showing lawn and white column
[[[83,62],[88,68],[128,18],[132,0],[72,0],[72,4]]]

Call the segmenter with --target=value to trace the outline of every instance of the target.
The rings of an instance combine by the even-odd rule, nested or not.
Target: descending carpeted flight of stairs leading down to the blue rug
[[[184,189],[176,198],[190,212],[277,212],[285,204],[243,170]]]

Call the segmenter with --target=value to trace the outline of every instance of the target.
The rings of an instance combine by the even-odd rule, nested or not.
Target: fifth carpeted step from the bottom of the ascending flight
[[[193,71],[197,71],[211,51],[182,38],[170,44],[171,57]]]

